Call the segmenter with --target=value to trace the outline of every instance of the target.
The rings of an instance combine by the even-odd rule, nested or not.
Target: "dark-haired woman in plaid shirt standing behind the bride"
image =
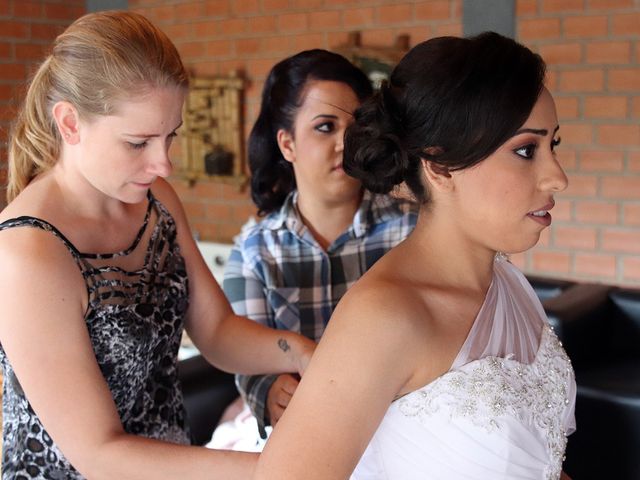
[[[223,284],[236,314],[317,341],[346,290],[413,229],[412,202],[365,191],[342,169],[345,129],[371,93],[361,70],[326,50],[269,73],[249,138],[264,218],[236,239]],[[264,438],[298,378],[238,375],[237,384]]]

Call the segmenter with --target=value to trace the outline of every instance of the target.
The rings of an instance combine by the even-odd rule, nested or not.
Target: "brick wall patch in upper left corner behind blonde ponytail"
[[[26,80],[56,35],[83,13],[84,0],[0,0],[0,209],[5,205],[7,134]]]

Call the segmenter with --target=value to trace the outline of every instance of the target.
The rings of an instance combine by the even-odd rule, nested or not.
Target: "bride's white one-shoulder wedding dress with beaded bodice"
[[[352,480],[558,479],[575,394],[535,292],[497,257],[451,369],[391,404]]]

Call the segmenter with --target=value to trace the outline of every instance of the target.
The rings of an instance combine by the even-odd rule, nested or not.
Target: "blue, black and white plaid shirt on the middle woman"
[[[223,289],[238,315],[320,340],[347,289],[413,229],[417,205],[365,191],[352,225],[325,251],[304,225],[292,192],[282,208],[243,229]],[[267,393],[277,375],[237,375],[265,438]]]

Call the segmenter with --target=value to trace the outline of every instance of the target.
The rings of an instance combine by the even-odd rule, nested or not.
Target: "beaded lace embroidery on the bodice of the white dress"
[[[398,411],[426,423],[441,415],[496,435],[519,422],[544,444],[543,478],[559,478],[566,437],[573,429],[567,421],[575,394],[573,369],[551,329],[542,335],[533,363],[500,357],[470,362],[398,400]]]

